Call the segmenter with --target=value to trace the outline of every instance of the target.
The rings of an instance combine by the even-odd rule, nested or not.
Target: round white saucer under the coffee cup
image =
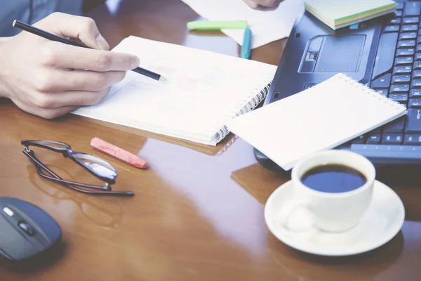
[[[312,228],[305,233],[291,233],[283,227],[281,207],[293,196],[292,181],[277,188],[265,205],[265,221],[281,242],[310,254],[347,256],[370,251],[392,240],[405,219],[405,208],[396,193],[375,181],[373,201],[360,223],[345,233],[325,233]]]

